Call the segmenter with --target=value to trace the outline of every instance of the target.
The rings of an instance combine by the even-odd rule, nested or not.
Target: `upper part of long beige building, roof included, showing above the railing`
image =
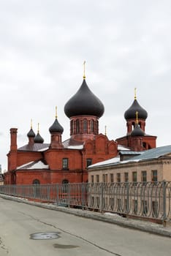
[[[124,155],[127,159],[123,158]],[[128,156],[130,156],[129,159]],[[120,157],[114,157],[88,167],[88,182],[91,183],[163,180],[171,181],[171,146],[140,152],[121,151]]]

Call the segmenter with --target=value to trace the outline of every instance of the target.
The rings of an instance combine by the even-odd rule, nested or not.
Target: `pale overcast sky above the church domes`
[[[137,100],[145,132],[171,144],[171,1],[0,0],[0,163],[7,169],[11,127],[18,147],[33,129],[50,143],[55,120],[69,138],[64,105],[83,81],[104,104],[99,132],[126,135],[123,114]]]

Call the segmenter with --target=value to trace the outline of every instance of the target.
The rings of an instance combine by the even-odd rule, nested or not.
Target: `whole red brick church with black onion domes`
[[[137,118],[136,112],[139,113]],[[125,113],[127,135],[108,140],[99,134],[99,118],[104,105],[88,88],[85,76],[77,93],[66,102],[64,113],[70,119],[70,138],[62,141],[64,128],[59,124],[57,113],[49,128],[50,143],[44,143],[32,127],[28,143],[18,148],[18,129],[11,128],[11,145],[7,154],[8,170],[4,184],[66,184],[88,181],[87,167],[96,162],[116,157],[120,145],[125,150],[142,151],[156,147],[156,136],[145,135],[147,112],[137,99]]]

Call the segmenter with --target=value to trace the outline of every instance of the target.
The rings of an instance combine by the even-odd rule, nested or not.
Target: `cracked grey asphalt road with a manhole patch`
[[[171,255],[171,238],[0,198],[0,256]]]

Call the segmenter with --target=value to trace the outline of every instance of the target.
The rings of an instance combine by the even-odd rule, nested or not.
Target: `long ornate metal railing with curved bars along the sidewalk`
[[[0,194],[58,206],[171,220],[171,181],[0,186]]]

